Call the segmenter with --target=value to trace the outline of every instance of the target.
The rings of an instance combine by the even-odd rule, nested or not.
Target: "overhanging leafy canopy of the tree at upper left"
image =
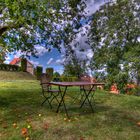
[[[35,45],[60,49],[79,28],[81,0],[1,0],[0,47],[35,54]]]

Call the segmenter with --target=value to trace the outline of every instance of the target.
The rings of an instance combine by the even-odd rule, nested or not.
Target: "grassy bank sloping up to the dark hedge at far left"
[[[27,72],[0,71],[0,80],[35,80],[35,77]]]

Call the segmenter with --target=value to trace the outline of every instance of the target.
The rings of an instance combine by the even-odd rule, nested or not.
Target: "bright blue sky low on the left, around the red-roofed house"
[[[8,54],[5,63],[9,63],[12,59],[20,57],[20,55],[20,52]],[[53,67],[55,71],[59,73],[63,72],[63,65],[61,64],[63,55],[57,49],[52,49],[48,52],[40,47],[38,58],[30,57],[28,60],[33,63],[34,66],[43,66],[44,71],[47,67]]]

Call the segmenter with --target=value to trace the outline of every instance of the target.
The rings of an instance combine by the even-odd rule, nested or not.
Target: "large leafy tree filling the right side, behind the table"
[[[94,52],[92,66],[105,68],[110,83],[116,82],[120,90],[128,81],[130,65],[136,71],[137,80],[140,76],[139,10],[138,0],[117,0],[106,3],[93,15],[90,31]]]

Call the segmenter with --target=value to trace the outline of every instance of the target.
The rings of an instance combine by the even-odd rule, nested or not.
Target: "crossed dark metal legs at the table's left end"
[[[63,106],[65,108],[66,115],[69,118],[68,111],[67,111],[67,108],[66,108],[66,105],[65,105],[65,101],[64,101],[64,97],[65,97],[65,94],[66,94],[66,91],[67,91],[67,86],[65,87],[65,90],[64,90],[63,93],[62,93],[61,88],[59,86],[59,91],[60,91],[60,94],[61,94],[61,100],[60,100],[60,103],[58,105],[58,108],[57,108],[57,111],[56,112],[57,113],[59,112],[59,108],[60,108],[61,104],[63,103]]]

